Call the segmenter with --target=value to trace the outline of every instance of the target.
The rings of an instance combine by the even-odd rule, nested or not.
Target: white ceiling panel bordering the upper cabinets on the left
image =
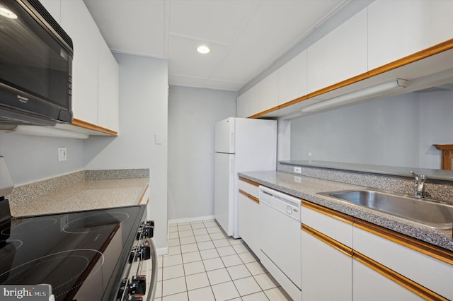
[[[84,0],[110,49],[165,57],[165,1]]]

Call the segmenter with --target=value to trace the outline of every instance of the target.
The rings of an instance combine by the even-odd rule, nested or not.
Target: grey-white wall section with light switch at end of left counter
[[[168,62],[114,54],[120,65],[120,133],[84,142],[86,170],[149,168],[154,242],[167,247]],[[162,143],[155,143],[155,134]]]

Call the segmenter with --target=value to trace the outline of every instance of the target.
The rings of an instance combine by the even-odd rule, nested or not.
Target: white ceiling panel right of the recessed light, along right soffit
[[[342,0],[260,2],[213,78],[250,81],[341,4]]]

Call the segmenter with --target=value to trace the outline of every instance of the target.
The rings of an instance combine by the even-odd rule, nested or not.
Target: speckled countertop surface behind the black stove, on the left
[[[135,205],[149,179],[84,179],[38,198],[11,201],[12,216],[92,210]]]

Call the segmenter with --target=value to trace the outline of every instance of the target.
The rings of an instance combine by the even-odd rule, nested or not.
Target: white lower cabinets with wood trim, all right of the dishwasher
[[[453,300],[453,252],[302,201],[302,300]]]

